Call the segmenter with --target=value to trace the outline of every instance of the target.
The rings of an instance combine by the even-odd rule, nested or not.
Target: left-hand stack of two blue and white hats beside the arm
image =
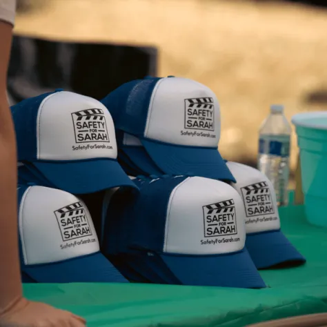
[[[19,240],[25,282],[127,282],[100,252],[75,195],[134,188],[117,162],[115,128],[99,101],[56,90],[12,106],[19,171]]]

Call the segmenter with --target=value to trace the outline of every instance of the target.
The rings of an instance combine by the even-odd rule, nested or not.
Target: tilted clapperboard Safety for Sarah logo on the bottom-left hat
[[[54,211],[54,215],[57,217],[63,241],[92,235],[88,217],[86,217],[81,202],[75,202],[75,204],[60,208]]]

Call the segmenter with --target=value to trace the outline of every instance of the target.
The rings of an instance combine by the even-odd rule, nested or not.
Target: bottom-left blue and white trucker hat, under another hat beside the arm
[[[19,186],[23,282],[127,282],[99,249],[86,205],[68,192]]]

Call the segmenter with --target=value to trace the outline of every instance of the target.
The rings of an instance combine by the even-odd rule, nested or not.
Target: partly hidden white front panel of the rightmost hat
[[[246,210],[246,232],[279,230],[280,221],[273,184],[259,170],[235,162],[227,163],[237,180],[232,186],[239,192]]]

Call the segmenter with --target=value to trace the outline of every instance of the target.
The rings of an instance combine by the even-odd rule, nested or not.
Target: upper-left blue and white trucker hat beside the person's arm
[[[74,194],[135,184],[117,162],[115,128],[99,101],[56,90],[11,107],[18,161]]]

